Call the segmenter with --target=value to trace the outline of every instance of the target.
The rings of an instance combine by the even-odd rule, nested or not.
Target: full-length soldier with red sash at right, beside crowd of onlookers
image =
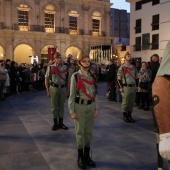
[[[118,69],[118,85],[122,94],[122,111],[125,122],[134,123],[132,118],[133,105],[136,97],[136,79],[138,72],[134,65],[131,64],[132,57],[129,52],[125,54],[125,63]]]

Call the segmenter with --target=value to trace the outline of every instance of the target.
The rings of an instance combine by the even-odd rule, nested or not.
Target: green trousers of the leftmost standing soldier
[[[53,118],[63,118],[64,117],[64,103],[66,99],[66,88],[57,88],[50,86],[51,95],[51,110]]]

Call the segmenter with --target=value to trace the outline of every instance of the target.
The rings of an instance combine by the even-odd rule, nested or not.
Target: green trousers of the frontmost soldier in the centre
[[[74,120],[76,130],[77,148],[90,147],[94,126],[95,103],[82,105],[75,103],[75,113],[78,118]]]

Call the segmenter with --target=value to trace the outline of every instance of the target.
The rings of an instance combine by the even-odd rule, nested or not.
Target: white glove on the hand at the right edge
[[[170,160],[170,133],[159,135],[159,153],[162,158]]]

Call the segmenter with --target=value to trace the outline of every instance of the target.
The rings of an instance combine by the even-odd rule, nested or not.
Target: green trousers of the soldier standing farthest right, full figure
[[[136,98],[136,87],[123,87],[124,93],[122,93],[122,111],[132,112],[133,105]]]

